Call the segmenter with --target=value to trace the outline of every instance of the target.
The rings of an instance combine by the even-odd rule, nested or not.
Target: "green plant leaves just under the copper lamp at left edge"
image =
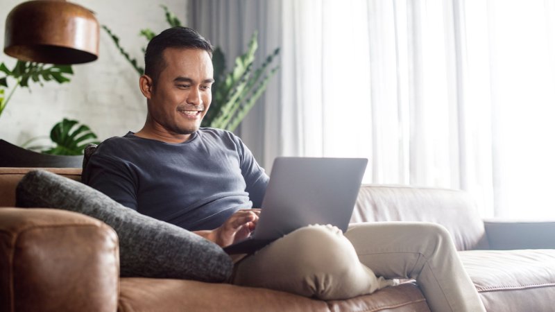
[[[70,65],[52,65],[22,60],[18,60],[12,70],[8,69],[3,62],[0,63],[0,71],[5,74],[0,78],[0,115],[8,105],[17,87],[26,87],[31,90],[30,82],[39,83],[43,86],[44,82],[51,80],[57,83],[67,83],[69,82],[67,76],[74,73]],[[15,85],[6,97],[4,90],[9,87],[8,80],[15,80]]]

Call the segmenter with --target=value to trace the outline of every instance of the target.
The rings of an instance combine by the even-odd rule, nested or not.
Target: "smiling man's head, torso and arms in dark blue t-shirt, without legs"
[[[145,65],[143,128],[103,141],[83,181],[221,245],[247,236],[268,176],[239,137],[200,128],[212,101],[210,42],[191,28],[170,28],[149,42]]]

